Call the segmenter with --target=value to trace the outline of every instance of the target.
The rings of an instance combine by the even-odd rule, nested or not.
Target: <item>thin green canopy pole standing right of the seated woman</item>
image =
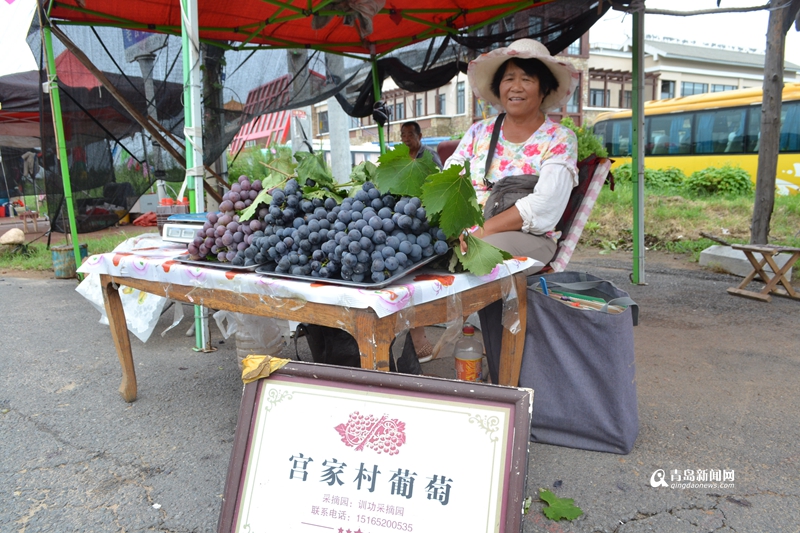
[[[644,2],[633,12],[633,275],[645,285],[644,273]]]

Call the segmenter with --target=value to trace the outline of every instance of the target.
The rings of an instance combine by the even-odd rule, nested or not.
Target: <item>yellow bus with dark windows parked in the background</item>
[[[645,103],[644,114],[647,168],[675,167],[688,176],[729,164],[746,170],[755,183],[761,89],[653,100]],[[598,116],[594,133],[602,137],[615,166],[630,162],[630,110]],[[800,193],[800,83],[783,88],[775,182],[778,194]]]

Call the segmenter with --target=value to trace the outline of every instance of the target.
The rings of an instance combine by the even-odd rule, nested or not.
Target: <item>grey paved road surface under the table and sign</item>
[[[649,285],[631,286],[629,261],[571,267],[640,303],[641,431],[627,456],[532,445],[528,493],[550,488],[584,515],[554,523],[534,501],[524,531],[800,531],[800,302],[728,296],[734,278],[697,269],[650,265]],[[139,399],[126,404],[108,328],[74,288],[0,280],[0,531],[215,531],[235,346],[212,328],[218,350],[195,353],[183,325],[159,335],[164,316],[147,344],[132,337]],[[734,487],[652,488],[657,469],[726,469]]]

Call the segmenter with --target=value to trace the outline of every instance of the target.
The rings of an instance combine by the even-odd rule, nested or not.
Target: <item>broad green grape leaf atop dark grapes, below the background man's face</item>
[[[419,196],[425,178],[439,170],[427,150],[422,157],[411,159],[405,144],[395,145],[378,158],[378,163],[375,186],[383,193],[405,196]]]

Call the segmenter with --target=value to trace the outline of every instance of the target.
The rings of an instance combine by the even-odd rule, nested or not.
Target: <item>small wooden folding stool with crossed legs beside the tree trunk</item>
[[[797,259],[800,258],[800,248],[788,248],[786,246],[774,246],[771,244],[734,244],[731,248],[744,252],[750,264],[753,265],[753,271],[742,280],[738,287],[735,289],[728,289],[730,294],[744,296],[745,298],[753,298],[763,302],[772,301],[770,293],[800,300],[800,294],[794,290],[794,287],[792,287],[792,284],[786,279],[785,275],[786,272],[792,268],[792,265],[794,265]],[[783,268],[779,268],[774,259],[774,257],[780,253],[792,254],[792,257],[786,261]],[[763,259],[756,259],[756,254],[762,256]],[[772,269],[771,273],[764,271],[764,266],[766,265],[769,265]],[[772,276],[770,276],[770,274],[772,274]],[[745,290],[747,284],[753,281],[756,276],[761,277],[764,283],[766,283],[764,288],[761,289],[761,292]],[[783,285],[784,288],[778,287],[778,283]]]

